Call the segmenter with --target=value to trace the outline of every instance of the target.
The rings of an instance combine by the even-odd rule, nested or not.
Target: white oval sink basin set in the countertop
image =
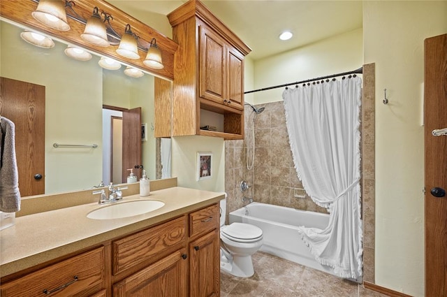
[[[162,208],[165,203],[157,200],[134,200],[119,202],[98,208],[87,214],[89,219],[121,219],[123,217],[133,217],[143,215]]]

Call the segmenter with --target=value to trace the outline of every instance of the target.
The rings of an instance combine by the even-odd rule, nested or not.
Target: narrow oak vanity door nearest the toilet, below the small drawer
[[[191,297],[217,297],[220,295],[219,230],[189,244]]]

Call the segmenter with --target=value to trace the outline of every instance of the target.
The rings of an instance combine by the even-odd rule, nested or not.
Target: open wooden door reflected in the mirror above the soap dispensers
[[[127,182],[127,176],[133,168],[133,173],[141,177],[141,108],[123,110],[123,167],[122,182]]]

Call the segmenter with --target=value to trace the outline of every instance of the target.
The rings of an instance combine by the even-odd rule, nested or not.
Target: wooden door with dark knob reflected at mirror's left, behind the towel
[[[0,114],[15,124],[20,195],[44,194],[45,87],[10,78],[0,85]]]

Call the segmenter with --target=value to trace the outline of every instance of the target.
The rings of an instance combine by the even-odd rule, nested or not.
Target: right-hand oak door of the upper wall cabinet
[[[230,106],[244,109],[244,56],[235,48],[228,46],[227,85]]]

